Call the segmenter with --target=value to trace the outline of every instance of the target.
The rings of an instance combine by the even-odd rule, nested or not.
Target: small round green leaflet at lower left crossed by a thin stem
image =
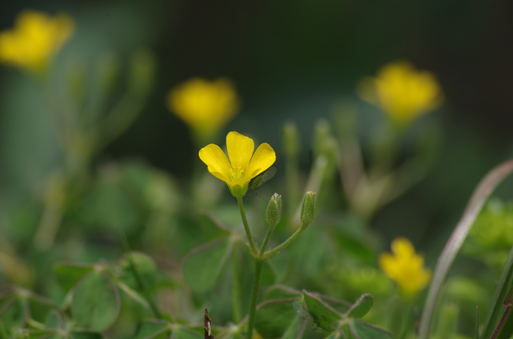
[[[137,274],[139,274],[146,287],[152,286],[156,281],[157,267],[153,259],[142,252],[132,251],[123,256],[121,259],[121,280],[132,289],[141,291],[139,283],[137,283],[134,276],[131,261],[133,261]]]

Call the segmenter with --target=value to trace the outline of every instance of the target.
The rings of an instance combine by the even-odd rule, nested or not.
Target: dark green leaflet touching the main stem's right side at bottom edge
[[[296,312],[292,307],[294,299],[278,299],[264,302],[257,308],[255,314],[255,329],[264,338],[282,336]]]

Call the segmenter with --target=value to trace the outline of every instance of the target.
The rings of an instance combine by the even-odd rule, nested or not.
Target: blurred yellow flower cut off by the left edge
[[[18,14],[14,28],[0,32],[0,62],[31,72],[41,72],[73,32],[67,14],[51,18],[42,12]]]

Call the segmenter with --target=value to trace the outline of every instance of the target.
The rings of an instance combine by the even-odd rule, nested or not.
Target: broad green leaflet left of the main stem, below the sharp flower
[[[233,248],[233,241],[222,238],[195,248],[184,262],[184,278],[194,291],[204,292],[215,286]]]

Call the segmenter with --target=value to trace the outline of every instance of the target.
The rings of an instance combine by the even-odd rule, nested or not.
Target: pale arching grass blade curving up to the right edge
[[[420,323],[420,332],[418,339],[427,339],[429,337],[429,330],[435,306],[440,296],[440,290],[447,277],[447,273],[456,258],[458,251],[467,237],[470,226],[476,220],[484,203],[494,191],[497,185],[506,178],[513,171],[513,160],[506,161],[499,166],[492,169],[479,183],[474,191],[472,198],[467,204],[467,207],[456,225],[455,230],[452,232],[445,248],[443,249],[440,258],[438,259],[437,267],[433,281],[429,287],[424,311]]]

